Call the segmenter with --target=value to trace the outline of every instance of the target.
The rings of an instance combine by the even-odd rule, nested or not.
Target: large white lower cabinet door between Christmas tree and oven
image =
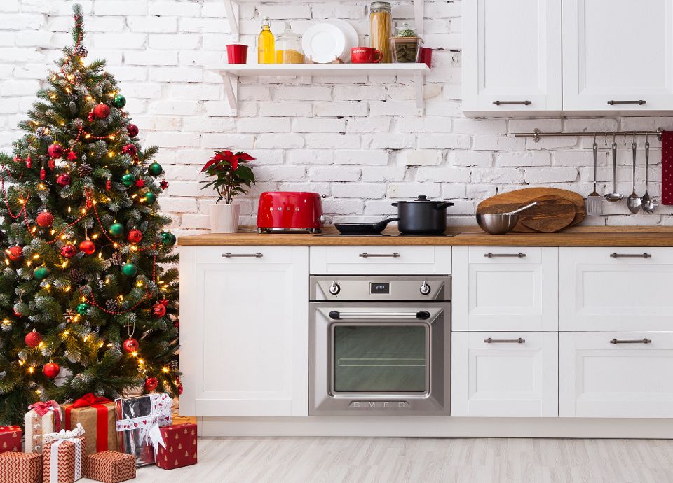
[[[180,412],[307,416],[308,248],[183,247],[180,270]]]

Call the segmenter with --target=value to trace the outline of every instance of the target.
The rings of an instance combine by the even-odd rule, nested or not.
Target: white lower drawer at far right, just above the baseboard
[[[559,416],[673,417],[671,374],[673,334],[562,332]]]

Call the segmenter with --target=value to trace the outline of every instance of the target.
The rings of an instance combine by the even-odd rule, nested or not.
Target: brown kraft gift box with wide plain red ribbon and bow
[[[65,429],[71,430],[79,423],[86,431],[84,454],[107,450],[116,451],[114,402],[88,393],[75,402],[62,405],[61,408],[65,419]]]

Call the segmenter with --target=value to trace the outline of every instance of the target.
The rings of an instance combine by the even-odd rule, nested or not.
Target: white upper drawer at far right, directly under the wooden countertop
[[[559,250],[559,330],[673,332],[672,248]]]

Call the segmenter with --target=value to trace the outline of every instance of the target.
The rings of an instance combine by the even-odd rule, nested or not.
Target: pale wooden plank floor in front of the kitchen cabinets
[[[200,438],[198,458],[135,482],[673,482],[673,440]]]

